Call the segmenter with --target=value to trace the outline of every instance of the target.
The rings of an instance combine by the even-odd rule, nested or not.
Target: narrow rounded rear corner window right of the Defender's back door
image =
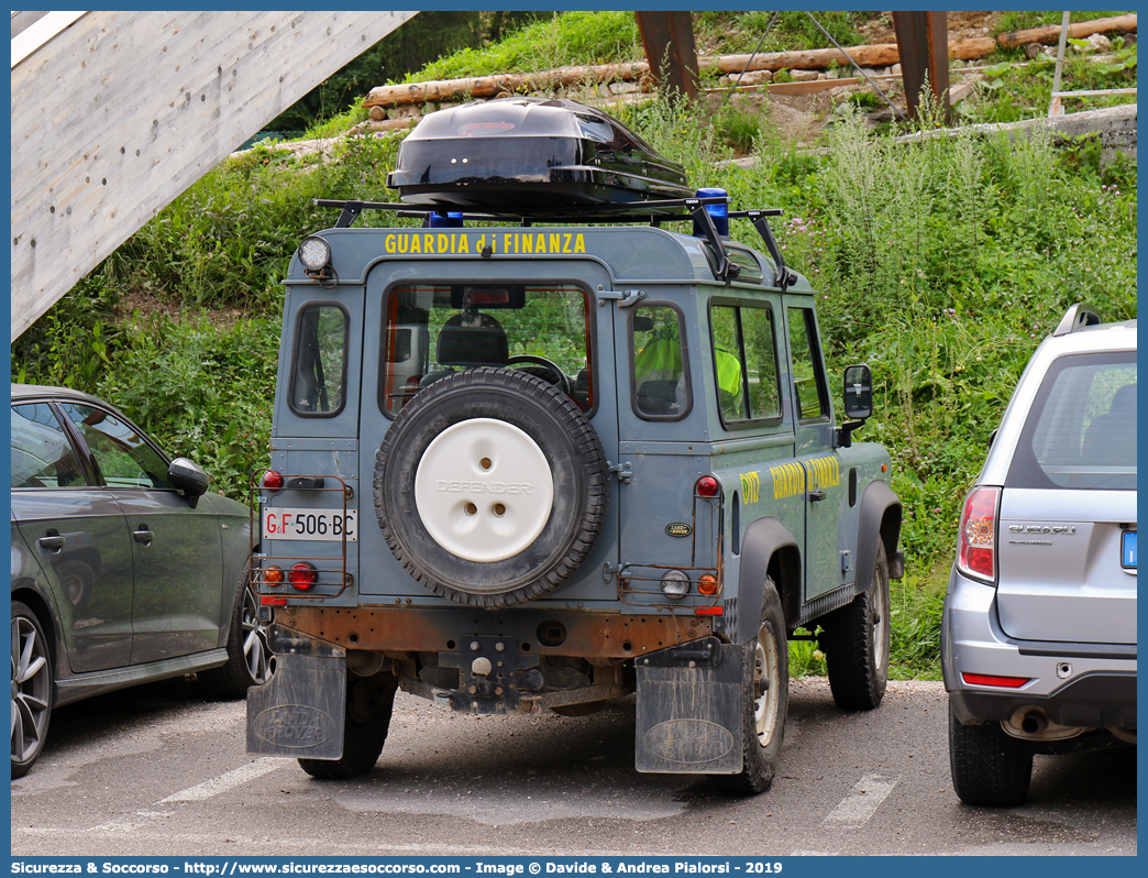
[[[690,376],[683,354],[682,315],[668,305],[634,309],[634,411],[638,417],[676,421],[690,411]]]

